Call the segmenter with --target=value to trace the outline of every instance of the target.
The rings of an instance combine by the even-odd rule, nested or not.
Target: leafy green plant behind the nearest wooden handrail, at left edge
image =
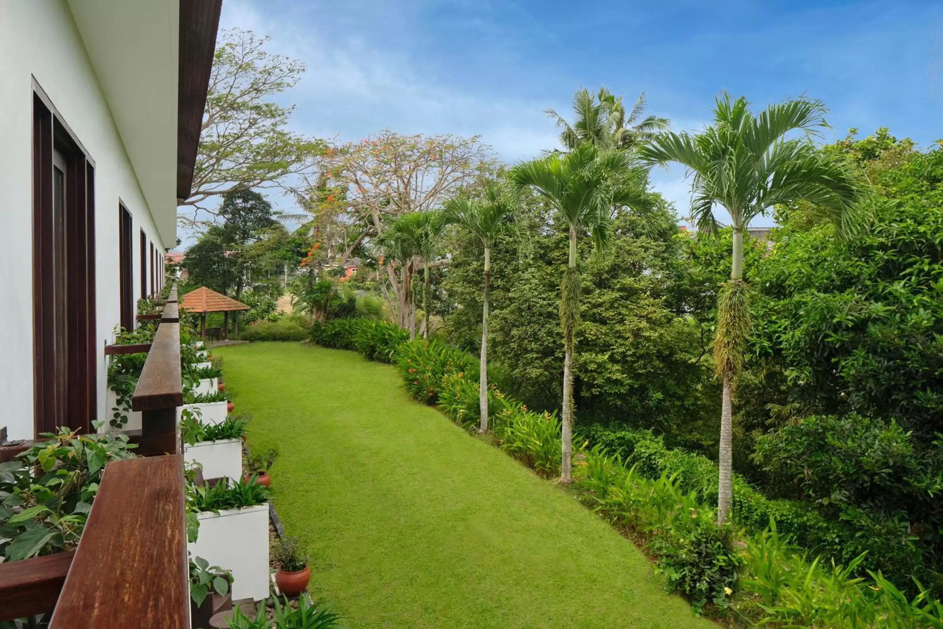
[[[0,552],[8,561],[71,550],[109,461],[133,458],[120,433],[67,428],[0,463]]]

